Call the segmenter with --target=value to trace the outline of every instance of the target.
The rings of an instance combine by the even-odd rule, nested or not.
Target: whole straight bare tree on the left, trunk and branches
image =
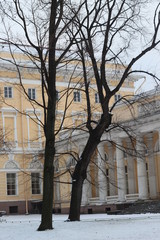
[[[1,1],[1,41],[8,45],[11,58],[19,77],[21,89],[35,109],[44,112],[44,121],[36,119],[43,127],[45,136],[44,180],[42,220],[39,231],[52,229],[53,177],[55,157],[56,77],[58,68],[72,58],[70,49],[79,32],[72,24],[83,2],[70,1]],[[72,10],[72,11],[71,11]],[[70,30],[69,30],[70,29]],[[67,31],[73,32],[72,36]],[[41,79],[41,101],[30,99],[23,84],[24,64],[17,61],[15,50],[28,58],[27,69],[36,70]],[[6,59],[3,59],[6,60]],[[34,112],[36,114],[36,111]]]

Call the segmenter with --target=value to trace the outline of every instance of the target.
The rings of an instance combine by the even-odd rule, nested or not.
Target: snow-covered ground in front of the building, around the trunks
[[[53,230],[38,232],[40,215],[3,216],[0,240],[159,240],[160,214],[82,215],[80,222],[53,216]]]

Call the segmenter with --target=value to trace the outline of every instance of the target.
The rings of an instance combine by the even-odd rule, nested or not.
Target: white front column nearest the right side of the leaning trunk
[[[106,201],[107,196],[107,178],[106,178],[106,162],[104,144],[98,146],[98,184],[99,184],[99,200]]]

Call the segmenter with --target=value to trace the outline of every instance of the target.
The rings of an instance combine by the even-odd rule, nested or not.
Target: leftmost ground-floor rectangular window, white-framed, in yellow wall
[[[16,173],[7,173],[7,195],[17,194]]]

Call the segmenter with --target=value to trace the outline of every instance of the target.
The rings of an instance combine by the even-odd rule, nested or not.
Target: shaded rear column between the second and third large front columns
[[[127,144],[127,169],[128,169],[128,188],[129,194],[133,194],[136,192],[135,185],[135,169],[134,169],[134,156],[133,156],[133,146],[131,143]]]

